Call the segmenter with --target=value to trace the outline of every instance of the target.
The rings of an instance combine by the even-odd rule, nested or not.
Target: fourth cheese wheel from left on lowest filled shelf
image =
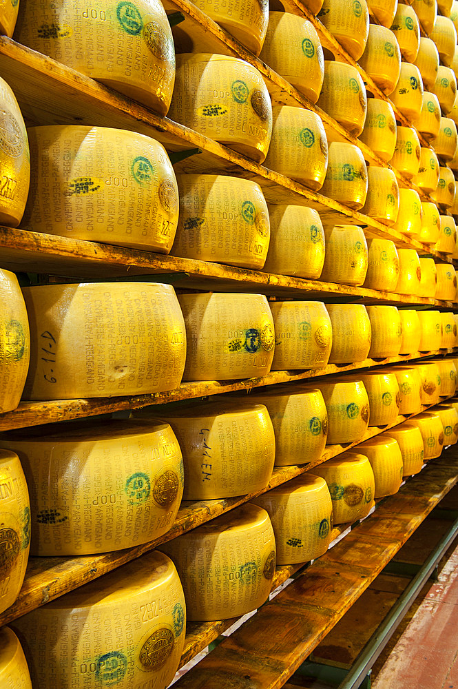
[[[326,553],[333,504],[324,478],[306,473],[252,502],[269,513],[278,564],[309,562]]]

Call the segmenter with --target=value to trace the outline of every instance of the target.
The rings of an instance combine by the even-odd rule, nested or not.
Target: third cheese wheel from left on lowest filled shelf
[[[269,598],[275,537],[257,505],[241,505],[160,549],[176,564],[191,621],[240,617]]]

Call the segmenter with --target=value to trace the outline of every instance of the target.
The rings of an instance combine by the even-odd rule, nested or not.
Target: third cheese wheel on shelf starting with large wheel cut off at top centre
[[[364,81],[352,65],[343,62],[324,62],[324,80],[318,105],[358,136],[366,121],[367,99]]]

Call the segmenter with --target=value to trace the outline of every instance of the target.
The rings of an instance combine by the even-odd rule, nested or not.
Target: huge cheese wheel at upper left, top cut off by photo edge
[[[32,0],[15,39],[161,115],[174,90],[171,28],[158,0],[98,3]]]

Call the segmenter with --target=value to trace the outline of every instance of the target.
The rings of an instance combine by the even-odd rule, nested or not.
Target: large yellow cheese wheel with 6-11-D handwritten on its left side
[[[173,390],[186,332],[173,287],[98,282],[24,287],[30,322],[27,400]]]

